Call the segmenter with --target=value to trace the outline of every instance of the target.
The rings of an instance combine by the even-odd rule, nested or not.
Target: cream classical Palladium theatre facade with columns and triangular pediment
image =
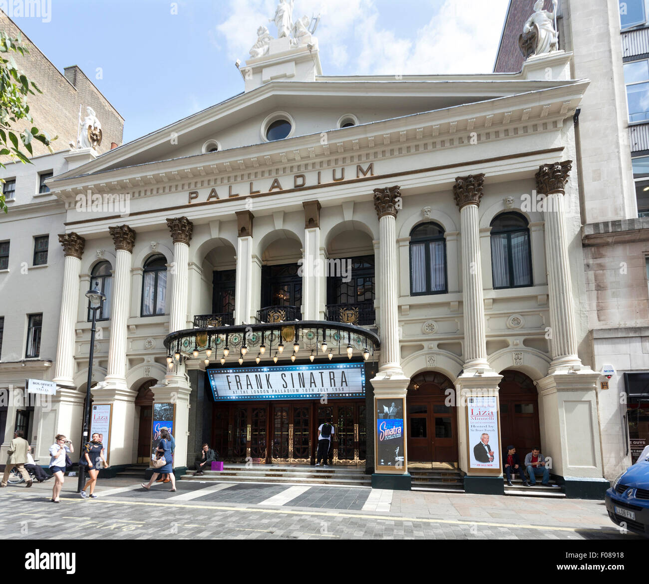
[[[203,442],[309,465],[332,417],[332,463],[375,486],[445,464],[502,492],[511,443],[600,489],[569,55],[326,77],[311,34],[260,39],[244,93],[49,182],[66,258],[41,435],[80,435],[97,286],[114,467],[161,426],[177,467]]]

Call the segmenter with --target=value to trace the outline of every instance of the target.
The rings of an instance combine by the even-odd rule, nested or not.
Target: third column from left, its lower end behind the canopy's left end
[[[167,219],[167,226],[171,237],[173,237],[173,282],[171,309],[169,310],[169,332],[176,332],[187,328],[188,263],[194,225],[187,217],[176,217]]]

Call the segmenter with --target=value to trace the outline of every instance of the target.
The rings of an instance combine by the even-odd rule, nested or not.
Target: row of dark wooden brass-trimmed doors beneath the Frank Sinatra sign
[[[228,462],[315,464],[317,430],[327,417],[335,433],[333,464],[365,463],[365,402],[238,402],[215,404],[212,443]]]

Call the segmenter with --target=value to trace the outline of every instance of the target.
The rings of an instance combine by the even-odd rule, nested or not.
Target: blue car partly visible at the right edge
[[[649,457],[627,468],[606,491],[611,521],[649,537]]]

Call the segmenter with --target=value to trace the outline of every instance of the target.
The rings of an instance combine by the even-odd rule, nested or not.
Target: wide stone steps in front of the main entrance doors
[[[311,465],[224,465],[223,470],[206,470],[202,476],[185,474],[184,481],[214,483],[295,483],[299,485],[340,485],[371,487],[372,477],[365,467],[313,467]]]

